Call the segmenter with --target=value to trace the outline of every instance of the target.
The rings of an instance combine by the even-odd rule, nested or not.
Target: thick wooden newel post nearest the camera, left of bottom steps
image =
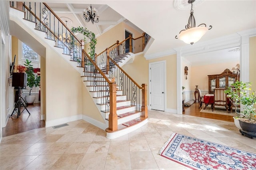
[[[109,83],[110,87],[110,113],[108,116],[108,130],[114,132],[117,129],[117,114],[116,114],[116,83]]]

